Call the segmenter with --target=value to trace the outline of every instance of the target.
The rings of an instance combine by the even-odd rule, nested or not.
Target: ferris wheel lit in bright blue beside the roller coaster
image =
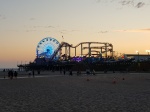
[[[55,50],[59,47],[59,42],[52,38],[52,37],[46,37],[44,39],[42,39],[36,48],[36,55],[37,58],[51,58],[51,56],[53,55],[53,53],[55,52]],[[57,55],[55,56],[55,59],[58,59],[59,57],[59,52],[57,53]]]

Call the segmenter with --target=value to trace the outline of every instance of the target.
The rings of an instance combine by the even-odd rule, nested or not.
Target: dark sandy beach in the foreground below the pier
[[[0,112],[150,112],[150,73],[0,78]]]

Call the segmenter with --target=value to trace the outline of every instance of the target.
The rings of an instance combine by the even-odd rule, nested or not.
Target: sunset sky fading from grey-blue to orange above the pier
[[[45,37],[73,45],[108,42],[117,53],[146,54],[150,0],[0,0],[0,68],[33,61]]]

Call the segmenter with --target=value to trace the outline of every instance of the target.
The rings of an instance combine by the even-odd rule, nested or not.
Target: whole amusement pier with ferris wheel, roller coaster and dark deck
[[[134,62],[132,59],[115,60],[113,52],[113,45],[107,42],[81,42],[73,46],[46,37],[37,45],[34,62],[17,66],[20,70],[150,71],[150,61],[139,64],[139,61]]]

